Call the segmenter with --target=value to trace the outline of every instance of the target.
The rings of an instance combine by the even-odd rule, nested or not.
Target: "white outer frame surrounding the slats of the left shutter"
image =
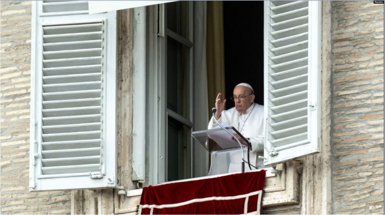
[[[117,176],[117,56],[116,11],[96,15],[42,16],[42,2],[32,3],[30,191],[115,187]],[[43,26],[103,22],[102,163],[100,179],[89,173],[42,174]],[[108,25],[109,24],[109,25]],[[108,44],[108,45],[107,45]],[[108,66],[108,71],[107,71]],[[35,143],[36,141],[36,143]],[[35,164],[36,163],[36,164]],[[109,179],[108,179],[109,178]]]

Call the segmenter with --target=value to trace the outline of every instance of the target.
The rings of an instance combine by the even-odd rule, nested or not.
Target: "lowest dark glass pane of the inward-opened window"
[[[167,181],[190,178],[190,128],[168,117]]]

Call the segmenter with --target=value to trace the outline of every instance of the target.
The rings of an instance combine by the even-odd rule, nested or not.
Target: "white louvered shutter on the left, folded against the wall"
[[[84,2],[33,3],[30,191],[116,186],[116,12]]]

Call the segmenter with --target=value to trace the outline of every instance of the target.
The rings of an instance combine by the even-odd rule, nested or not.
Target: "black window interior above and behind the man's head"
[[[254,89],[255,102],[264,104],[263,1],[223,1],[226,109],[234,87],[242,82]]]

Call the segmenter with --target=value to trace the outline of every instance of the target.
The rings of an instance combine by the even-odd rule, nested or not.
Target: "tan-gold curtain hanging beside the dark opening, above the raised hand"
[[[225,55],[223,31],[223,2],[207,2],[207,82],[209,119],[218,93],[225,99]]]

